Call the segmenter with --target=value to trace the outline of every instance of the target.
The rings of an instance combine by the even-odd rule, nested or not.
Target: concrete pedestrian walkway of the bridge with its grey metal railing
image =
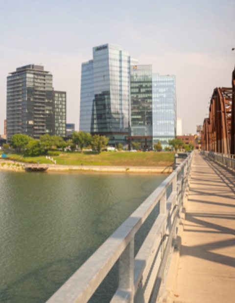
[[[233,156],[190,153],[47,303],[88,302],[116,262],[112,303],[235,302],[234,169]],[[135,235],[155,207],[135,255]]]

